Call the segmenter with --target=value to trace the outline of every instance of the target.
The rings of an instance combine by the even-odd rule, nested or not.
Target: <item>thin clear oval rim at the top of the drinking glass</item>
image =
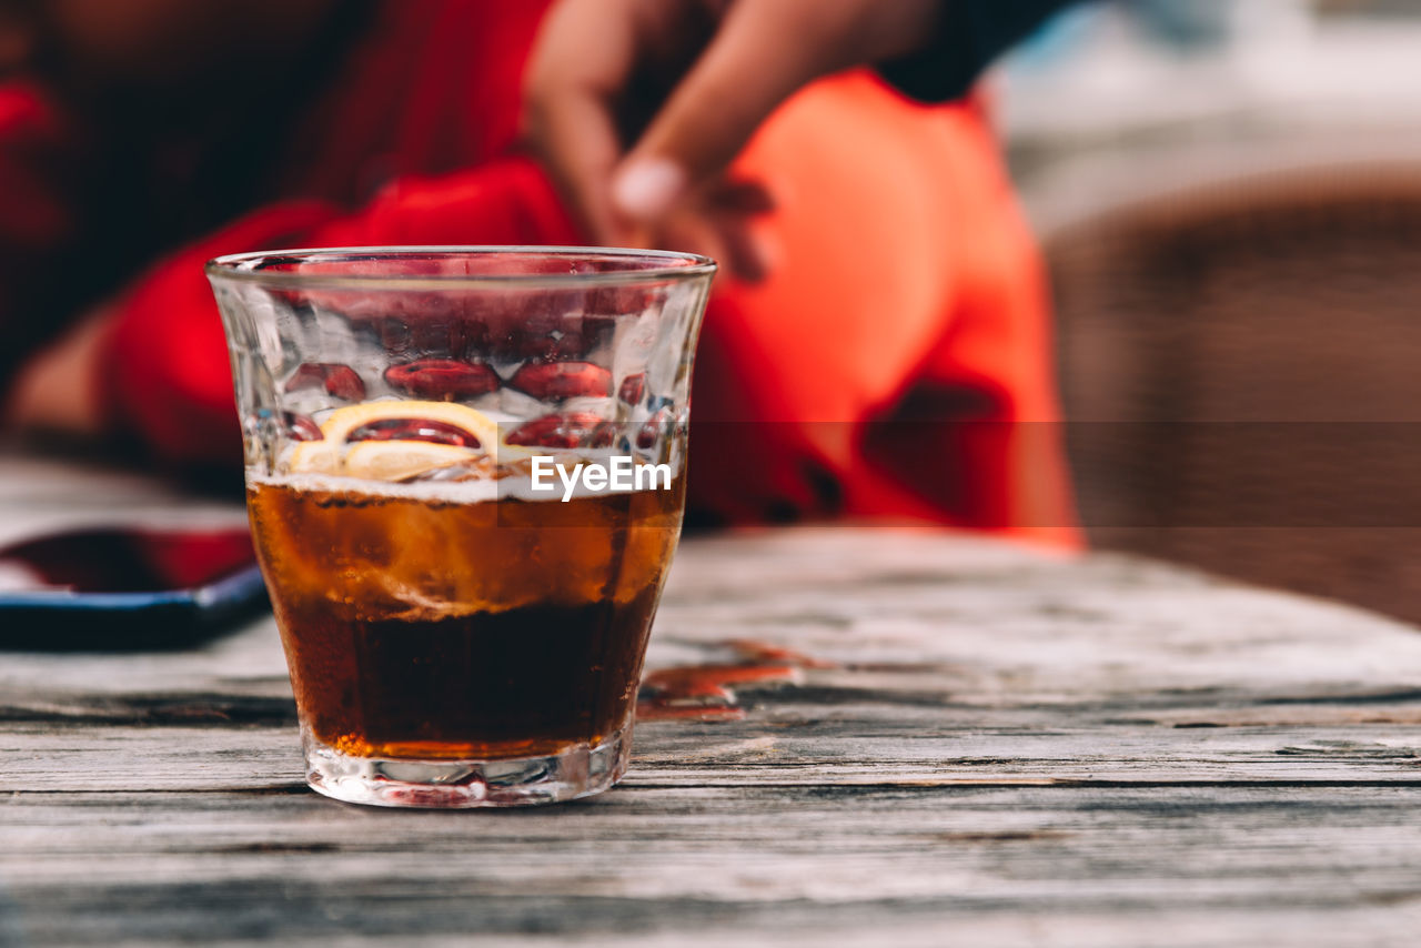
[[[293,273],[269,270],[277,262],[369,260],[381,257],[475,257],[512,254],[524,257],[568,257],[583,260],[630,259],[649,266],[594,273]],[[662,266],[655,266],[659,262]],[[216,280],[236,280],[291,289],[352,290],[468,290],[468,289],[576,289],[587,286],[635,286],[644,283],[689,281],[713,276],[718,264],[710,257],[674,250],[635,247],[573,247],[536,244],[411,244],[368,247],[297,247],[290,250],[254,250],[229,253],[207,260],[205,273]]]

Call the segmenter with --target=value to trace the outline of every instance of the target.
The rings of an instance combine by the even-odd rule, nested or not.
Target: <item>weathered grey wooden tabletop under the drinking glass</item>
[[[67,478],[0,462],[3,534],[233,515]],[[0,944],[1421,938],[1410,628],[848,527],[685,543],[652,665],[735,640],[814,661],[737,686],[745,719],[641,725],[600,799],[482,813],[307,792],[270,620],[190,654],[0,657]]]

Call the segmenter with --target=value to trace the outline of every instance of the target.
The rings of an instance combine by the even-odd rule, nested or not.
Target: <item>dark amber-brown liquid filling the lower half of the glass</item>
[[[503,759],[625,726],[681,530],[671,490],[456,503],[253,483],[303,723],[361,758]]]

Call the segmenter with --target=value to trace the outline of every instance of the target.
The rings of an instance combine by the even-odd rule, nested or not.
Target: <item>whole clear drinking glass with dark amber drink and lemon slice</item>
[[[713,273],[564,247],[207,264],[315,790],[517,806],[622,776]]]

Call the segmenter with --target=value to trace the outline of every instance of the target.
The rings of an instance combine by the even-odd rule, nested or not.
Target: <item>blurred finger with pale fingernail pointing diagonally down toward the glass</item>
[[[838,55],[833,41],[796,41],[817,3],[740,0],[710,45],[651,121],[612,181],[615,209],[632,219],[665,215],[715,178],[756,128]]]

